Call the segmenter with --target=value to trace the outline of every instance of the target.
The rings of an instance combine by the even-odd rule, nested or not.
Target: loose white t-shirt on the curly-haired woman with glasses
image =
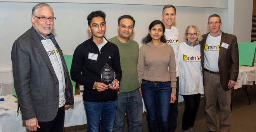
[[[203,94],[200,45],[192,47],[185,42],[180,43],[178,63],[180,72],[179,94]]]

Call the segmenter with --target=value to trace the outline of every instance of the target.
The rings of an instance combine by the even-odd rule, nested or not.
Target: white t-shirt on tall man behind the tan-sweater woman
[[[176,27],[171,26],[171,29],[165,29],[164,35],[166,37],[166,44],[173,46],[176,62],[176,77],[179,76],[179,65],[178,65],[178,52],[179,52],[179,31]]]

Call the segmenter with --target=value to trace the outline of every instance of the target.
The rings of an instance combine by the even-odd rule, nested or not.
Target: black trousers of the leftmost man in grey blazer
[[[65,109],[64,106],[58,109],[57,115],[54,120],[50,122],[38,122],[40,129],[37,128],[36,132],[62,132],[64,127]]]

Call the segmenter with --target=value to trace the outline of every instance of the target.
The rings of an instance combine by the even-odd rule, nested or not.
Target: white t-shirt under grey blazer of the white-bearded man
[[[59,108],[62,107],[66,103],[65,99],[65,77],[64,77],[64,70],[63,65],[61,61],[61,57],[59,55],[59,51],[54,46],[51,39],[43,39],[41,40],[45,51],[48,54],[48,57],[50,58],[50,61],[52,63],[52,67],[54,68],[54,72],[57,75],[58,81],[59,81]],[[47,83],[47,82],[46,82]]]

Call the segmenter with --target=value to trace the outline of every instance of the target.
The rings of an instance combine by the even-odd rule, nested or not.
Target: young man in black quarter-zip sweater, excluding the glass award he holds
[[[105,17],[106,14],[98,10],[88,15],[88,30],[92,38],[77,46],[71,65],[71,79],[84,86],[88,132],[99,131],[100,117],[102,132],[112,132],[117,106],[116,89],[122,77],[118,47],[104,37]],[[116,73],[110,86],[102,83],[100,78],[100,71],[106,63]]]

